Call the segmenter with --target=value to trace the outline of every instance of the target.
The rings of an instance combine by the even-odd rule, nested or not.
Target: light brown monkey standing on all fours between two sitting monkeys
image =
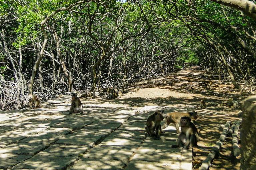
[[[179,133],[179,124],[180,123],[180,118],[182,117],[188,117],[191,119],[197,119],[197,112],[195,111],[189,111],[189,112],[171,112],[171,113],[167,113],[166,118],[165,118],[165,124],[161,127],[161,129],[165,129],[167,128],[170,123],[173,123],[175,125],[175,128],[177,130],[177,132]]]

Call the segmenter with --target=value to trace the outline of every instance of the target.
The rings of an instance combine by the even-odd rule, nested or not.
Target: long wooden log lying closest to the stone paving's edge
[[[208,154],[206,159],[203,161],[199,170],[207,170],[209,168],[209,166],[211,166],[211,161],[214,159],[216,153],[219,151],[219,149],[223,145],[223,141],[225,140],[225,138],[227,136],[227,132],[229,130],[230,124],[231,124],[231,121],[227,121],[225,127],[222,130],[219,140],[216,142],[216,145],[212,147],[210,153]]]

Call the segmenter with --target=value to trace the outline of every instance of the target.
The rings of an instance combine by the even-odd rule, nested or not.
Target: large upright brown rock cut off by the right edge
[[[256,169],[256,96],[243,100],[241,107],[241,170]]]

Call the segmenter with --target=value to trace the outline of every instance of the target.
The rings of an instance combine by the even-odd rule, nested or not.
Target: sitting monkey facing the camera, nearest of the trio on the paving
[[[180,143],[184,143],[183,149],[192,148],[193,146],[198,147],[197,141],[199,135],[196,126],[191,122],[188,117],[182,117],[180,119],[181,133],[177,139],[177,144],[172,147],[179,147]]]

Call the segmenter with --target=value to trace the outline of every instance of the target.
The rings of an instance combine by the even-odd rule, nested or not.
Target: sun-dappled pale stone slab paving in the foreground
[[[70,95],[57,100],[66,99]],[[84,115],[69,115],[70,102],[1,112],[0,169],[192,169],[192,149],[182,153],[170,147],[177,138],[171,135],[176,132],[173,125],[160,140],[147,137],[144,129],[155,110],[185,107],[136,107],[125,99],[82,103]]]

